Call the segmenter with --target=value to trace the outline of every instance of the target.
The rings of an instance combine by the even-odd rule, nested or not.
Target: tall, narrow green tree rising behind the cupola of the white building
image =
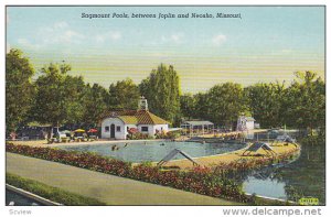
[[[180,123],[180,80],[173,66],[159,65],[141,82],[139,89],[153,113],[174,126]]]

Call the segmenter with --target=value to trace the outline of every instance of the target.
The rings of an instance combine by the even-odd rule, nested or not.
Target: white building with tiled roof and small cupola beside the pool
[[[102,120],[102,138],[125,140],[130,129],[154,135],[168,131],[169,122],[148,111],[147,100],[141,97],[138,110],[110,111]]]

